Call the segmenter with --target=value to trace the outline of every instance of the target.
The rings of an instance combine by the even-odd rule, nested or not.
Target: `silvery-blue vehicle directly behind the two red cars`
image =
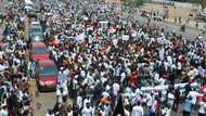
[[[40,24],[30,24],[28,28],[28,41],[29,42],[41,42],[44,40],[43,30]]]

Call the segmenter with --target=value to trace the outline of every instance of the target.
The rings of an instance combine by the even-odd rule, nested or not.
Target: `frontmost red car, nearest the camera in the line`
[[[56,89],[57,68],[53,61],[41,60],[37,62],[35,77],[39,91]]]

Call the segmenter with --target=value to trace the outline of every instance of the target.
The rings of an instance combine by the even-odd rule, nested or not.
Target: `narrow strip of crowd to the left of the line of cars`
[[[20,35],[25,29],[24,18],[17,10],[18,5],[13,4],[1,15],[4,28],[0,42],[0,116],[29,116],[31,113],[26,42]]]

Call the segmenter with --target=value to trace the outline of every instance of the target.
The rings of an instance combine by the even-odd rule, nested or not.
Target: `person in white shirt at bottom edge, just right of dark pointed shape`
[[[141,106],[140,102],[138,102],[137,105],[133,106],[131,116],[144,116],[144,109]]]

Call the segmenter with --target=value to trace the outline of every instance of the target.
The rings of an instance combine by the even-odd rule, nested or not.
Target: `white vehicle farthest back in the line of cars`
[[[25,0],[24,10],[29,17],[36,16],[36,7],[31,0]]]

